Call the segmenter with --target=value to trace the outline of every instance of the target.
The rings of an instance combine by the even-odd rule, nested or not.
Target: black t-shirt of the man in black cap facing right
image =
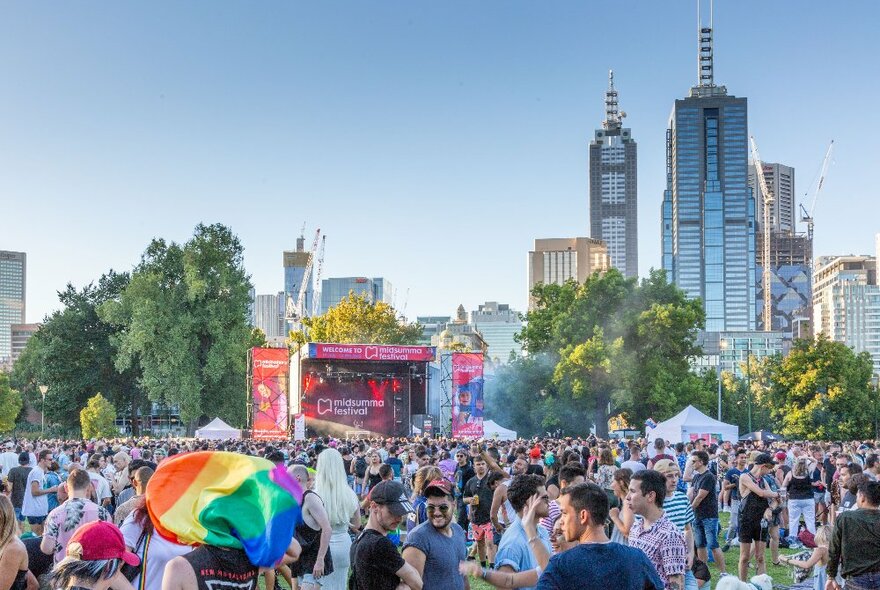
[[[397,570],[405,563],[388,537],[364,529],[351,545],[349,590],[395,590],[400,584]]]

